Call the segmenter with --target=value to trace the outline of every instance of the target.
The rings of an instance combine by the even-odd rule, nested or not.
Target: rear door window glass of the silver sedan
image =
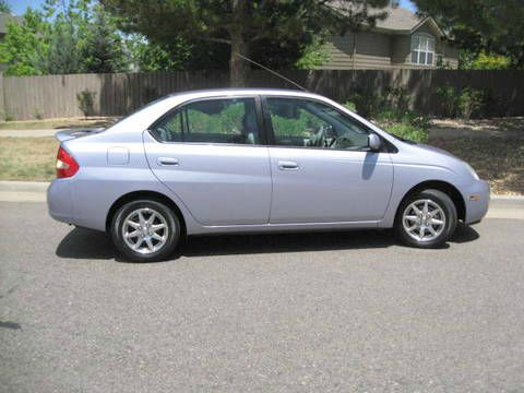
[[[162,142],[258,144],[254,98],[205,99],[184,105],[151,130]]]

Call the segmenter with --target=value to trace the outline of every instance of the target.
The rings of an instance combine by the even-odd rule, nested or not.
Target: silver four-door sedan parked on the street
[[[296,91],[179,93],[106,130],[57,138],[50,215],[107,231],[133,261],[223,233],[394,228],[434,248],[489,203],[461,159]]]

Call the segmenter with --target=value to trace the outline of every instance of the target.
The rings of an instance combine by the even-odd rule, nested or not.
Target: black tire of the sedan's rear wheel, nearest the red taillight
[[[147,243],[145,243],[145,237],[147,237],[146,235],[141,243],[142,247],[139,248],[139,251],[132,249],[129,245],[129,242],[133,241],[139,242],[139,237],[133,237],[128,241],[124,239],[122,228],[126,224],[126,221],[131,214],[139,210],[143,213],[144,218],[151,217],[151,215],[147,216],[147,212],[154,212],[156,214],[154,217],[154,223],[157,223],[156,225],[158,226],[164,225],[164,227],[167,227],[167,234],[164,233],[163,229],[157,229],[158,234],[162,235],[163,238],[165,237],[165,240],[156,240],[150,237],[150,241],[153,243],[154,248],[156,246],[159,247],[157,250],[154,250],[154,248],[153,250],[148,249]],[[162,221],[160,216],[164,221]],[[133,219],[133,223],[135,219]],[[154,223],[152,223],[152,225]],[[128,224],[127,229],[131,227]],[[180,240],[180,221],[171,209],[155,200],[141,199],[126,203],[116,212],[111,222],[110,233],[115,247],[126,260],[132,262],[156,262],[163,261],[174,253]],[[141,231],[142,229],[138,228],[136,230]],[[163,242],[163,245],[160,245],[160,242]],[[142,250],[142,252],[140,252],[140,250]]]

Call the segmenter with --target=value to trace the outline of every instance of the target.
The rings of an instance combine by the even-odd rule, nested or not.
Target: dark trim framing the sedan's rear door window
[[[171,116],[176,111],[183,109],[184,106],[193,104],[193,103],[199,103],[199,102],[209,102],[209,100],[217,100],[217,99],[246,99],[246,98],[251,98],[254,99],[254,109],[257,114],[257,124],[259,127],[259,139],[260,142],[255,144],[241,144],[241,143],[225,143],[225,142],[188,142],[188,141],[162,141],[158,138],[156,138],[155,133],[153,132],[153,129],[158,126],[163,120],[165,120],[167,117]],[[182,115],[183,118],[183,115]],[[183,119],[181,120],[183,122]],[[186,119],[187,121],[187,119]],[[188,124],[183,124],[182,127],[182,134],[186,132],[184,128],[188,127]],[[154,122],[152,122],[147,129],[146,132],[158,143],[163,144],[191,144],[191,145],[217,145],[217,146],[240,146],[240,147],[264,147],[267,146],[267,133],[265,129],[264,121],[262,119],[262,103],[261,103],[261,97],[260,95],[224,95],[224,96],[213,96],[213,97],[200,97],[200,98],[193,98],[193,99],[188,99],[184,100],[183,103],[179,103],[178,105],[174,106],[170,108],[168,111],[166,111],[164,115],[162,115],[159,118],[157,118]]]

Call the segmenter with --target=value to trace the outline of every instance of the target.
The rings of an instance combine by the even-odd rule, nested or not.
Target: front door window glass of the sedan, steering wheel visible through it
[[[276,145],[348,150],[368,146],[368,129],[329,105],[299,98],[267,98],[266,103]]]

